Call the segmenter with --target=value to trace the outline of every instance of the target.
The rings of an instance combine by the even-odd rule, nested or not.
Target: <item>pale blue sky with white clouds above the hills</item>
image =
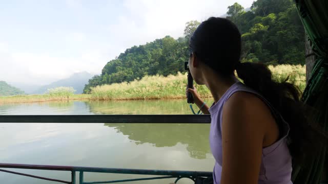
[[[0,81],[45,85],[253,0],[0,0]]]

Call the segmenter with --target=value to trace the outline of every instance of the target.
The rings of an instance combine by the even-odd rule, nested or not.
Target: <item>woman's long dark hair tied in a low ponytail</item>
[[[302,160],[309,148],[319,144],[313,142],[315,133],[308,124],[299,88],[287,79],[281,83],[273,81],[264,64],[240,63],[241,36],[233,22],[216,17],[203,21],[191,36],[189,49],[221,77],[232,77],[236,70],[245,85],[258,91],[279,111],[291,128],[289,149],[293,159]]]

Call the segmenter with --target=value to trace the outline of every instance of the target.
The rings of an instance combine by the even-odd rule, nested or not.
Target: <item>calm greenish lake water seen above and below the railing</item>
[[[65,101],[2,105],[0,115],[5,114],[191,114],[191,110],[185,99]],[[2,123],[0,163],[212,171],[208,136],[209,125],[199,124]],[[69,172],[15,171],[70,180]],[[86,173],[85,181],[137,177]],[[56,183],[2,172],[0,181]],[[133,183],[169,182],[173,179]],[[192,182],[185,179],[179,183]]]

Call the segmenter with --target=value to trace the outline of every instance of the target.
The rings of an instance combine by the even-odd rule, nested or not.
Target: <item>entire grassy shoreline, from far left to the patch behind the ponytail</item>
[[[269,66],[273,79],[284,81],[289,76],[289,82],[296,84],[301,90],[305,88],[305,65]],[[179,99],[186,98],[185,90],[187,73],[185,75],[146,76],[130,83],[122,82],[102,85],[92,88],[91,94],[74,95],[74,89],[58,87],[49,89],[45,95],[18,95],[0,97],[2,103],[45,102],[59,100],[139,100],[139,99]],[[201,98],[211,98],[212,95],[204,85],[197,85]]]

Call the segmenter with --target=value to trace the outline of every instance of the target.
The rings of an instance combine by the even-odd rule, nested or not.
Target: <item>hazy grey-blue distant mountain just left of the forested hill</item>
[[[49,88],[55,88],[59,86],[73,87],[76,91],[74,94],[83,93],[84,86],[88,83],[88,80],[92,77],[92,74],[88,72],[79,72],[71,75],[69,78],[61,79],[56,82],[52,82],[49,85],[42,86],[33,91],[32,94],[44,94]]]

